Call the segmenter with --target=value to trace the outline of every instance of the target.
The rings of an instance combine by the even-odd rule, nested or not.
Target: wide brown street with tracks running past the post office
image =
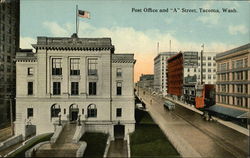
[[[139,90],[139,98],[163,131],[171,131],[200,154],[201,157],[247,157],[248,136],[217,122],[202,119],[201,115],[176,105],[174,111],[163,107],[164,100]],[[150,104],[151,103],[151,104]],[[189,155],[190,156],[190,155]]]

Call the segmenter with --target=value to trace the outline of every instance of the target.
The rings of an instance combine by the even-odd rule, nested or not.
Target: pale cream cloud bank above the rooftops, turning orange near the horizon
[[[58,25],[55,22],[46,22],[47,28],[53,36],[67,35],[75,32],[74,25]],[[69,29],[70,28],[70,29]],[[57,31],[55,30],[57,29]],[[135,79],[141,73],[153,73],[153,59],[157,55],[157,42],[160,43],[160,52],[169,51],[171,40],[171,51],[200,51],[202,43],[192,41],[180,41],[168,32],[157,29],[146,31],[135,30],[132,27],[97,28],[89,23],[80,22],[79,37],[110,37],[115,46],[116,53],[134,53],[137,60],[135,65]],[[223,43],[206,43],[205,51],[221,52],[233,48]]]

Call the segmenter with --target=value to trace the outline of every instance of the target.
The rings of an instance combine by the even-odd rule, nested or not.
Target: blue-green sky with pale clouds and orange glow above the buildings
[[[201,51],[204,44],[205,52],[220,53],[250,41],[249,1],[21,0],[20,47],[31,48],[37,36],[70,37],[76,5],[91,16],[79,18],[78,36],[110,37],[115,53],[133,53],[135,81],[153,73],[158,42],[159,52]]]

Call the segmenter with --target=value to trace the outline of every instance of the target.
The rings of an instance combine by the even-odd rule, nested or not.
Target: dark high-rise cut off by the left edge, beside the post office
[[[0,1],[0,126],[10,120],[14,107],[16,66],[13,61],[19,49],[20,1]],[[14,109],[14,108],[13,108]]]

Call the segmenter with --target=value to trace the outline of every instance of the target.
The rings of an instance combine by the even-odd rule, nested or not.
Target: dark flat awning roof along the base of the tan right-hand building
[[[238,110],[220,105],[213,105],[206,109],[209,111],[217,112],[234,118],[249,118],[249,111]]]

